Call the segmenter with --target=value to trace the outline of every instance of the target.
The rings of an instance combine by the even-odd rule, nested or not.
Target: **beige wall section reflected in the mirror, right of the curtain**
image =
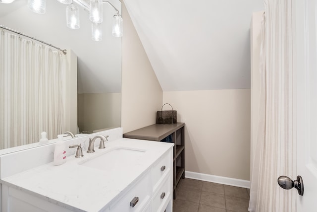
[[[120,127],[120,93],[78,94],[80,132]]]

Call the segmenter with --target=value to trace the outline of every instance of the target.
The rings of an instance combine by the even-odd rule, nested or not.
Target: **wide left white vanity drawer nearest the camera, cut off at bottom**
[[[123,197],[119,197],[112,206],[110,212],[142,212],[150,201],[150,174],[145,174]]]

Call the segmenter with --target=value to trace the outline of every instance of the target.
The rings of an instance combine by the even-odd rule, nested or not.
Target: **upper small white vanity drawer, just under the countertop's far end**
[[[154,193],[157,191],[161,181],[164,180],[168,173],[170,173],[171,165],[171,150],[168,150],[163,156],[159,158],[157,163],[152,168],[152,185]]]

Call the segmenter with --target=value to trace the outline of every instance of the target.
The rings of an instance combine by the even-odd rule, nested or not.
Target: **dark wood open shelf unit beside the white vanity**
[[[172,136],[174,143],[173,159],[173,199],[176,199],[175,189],[180,178],[185,178],[185,135],[184,123],[171,125],[154,124],[123,134],[123,138],[140,139],[149,141],[162,141],[167,136]]]

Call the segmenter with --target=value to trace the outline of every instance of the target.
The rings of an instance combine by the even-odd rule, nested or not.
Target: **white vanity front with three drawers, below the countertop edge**
[[[127,194],[110,205],[109,211],[172,212],[172,156],[172,148],[170,148]],[[130,206],[136,200],[135,206]]]

